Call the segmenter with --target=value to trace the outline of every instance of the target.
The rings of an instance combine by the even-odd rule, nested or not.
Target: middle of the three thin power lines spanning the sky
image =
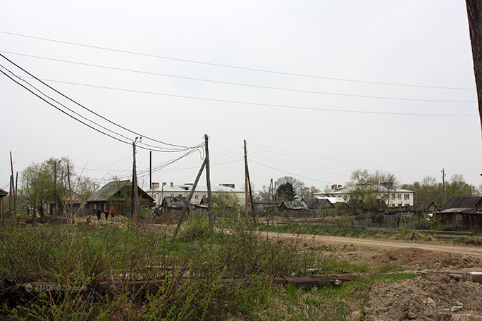
[[[184,77],[184,76],[178,76],[178,75],[168,75],[168,74],[162,74],[162,73],[152,73],[149,71],[142,71],[142,70],[132,70],[132,69],[127,69],[127,68],[118,68],[118,67],[110,67],[106,65],[96,65],[92,63],[81,63],[78,61],[66,61],[66,60],[61,60],[61,59],[56,59],[56,58],[47,58],[47,57],[40,57],[40,56],[32,56],[32,55],[27,55],[24,53],[14,53],[11,51],[2,51],[4,53],[10,53],[18,56],[26,56],[26,57],[31,57],[31,58],[39,58],[39,59],[45,59],[49,61],[58,61],[62,63],[73,63],[75,65],[86,65],[89,67],[96,67],[96,68],[104,68],[104,69],[110,69],[110,70],[120,70],[120,71],[127,71],[129,73],[140,73],[144,75],[156,75],[156,76],[162,76],[162,77],[171,77],[171,78],[177,78],[177,79],[183,79],[183,80],[194,80],[194,81],[199,81],[199,82],[211,82],[215,84],[229,84],[233,86],[242,86],[242,87],[252,87],[252,88],[259,88],[259,89],[273,89],[273,90],[280,90],[280,91],[285,91],[285,92],[301,92],[304,94],[323,94],[323,95],[330,95],[330,96],[347,96],[347,97],[357,97],[357,98],[366,98],[366,99],[388,99],[388,100],[401,100],[401,101],[426,101],[426,102],[437,102],[437,103],[476,103],[476,101],[446,101],[446,100],[439,100],[439,99],[412,99],[412,98],[403,98],[403,97],[385,97],[385,96],[369,96],[369,95],[357,95],[357,94],[340,94],[340,93],[333,93],[333,92],[317,92],[313,90],[304,90],[304,89],[291,89],[291,88],[284,88],[284,87],[271,87],[271,86],[261,86],[257,84],[242,84],[239,82],[224,82],[221,80],[209,80],[209,79],[203,79],[203,78],[196,78],[196,77]]]

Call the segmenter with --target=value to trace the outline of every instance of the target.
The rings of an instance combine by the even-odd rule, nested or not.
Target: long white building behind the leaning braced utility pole
[[[156,203],[160,205],[165,197],[187,197],[192,191],[193,184],[186,183],[182,185],[177,185],[171,182],[171,184],[162,183],[152,183],[152,189],[148,189],[146,192]],[[245,203],[245,191],[242,189],[236,189],[234,184],[219,184],[217,186],[211,186],[211,192],[213,196],[220,195],[233,195],[238,199],[240,205]],[[192,195],[191,203],[199,204],[203,197],[207,197],[207,186],[197,185],[194,189],[194,194]]]

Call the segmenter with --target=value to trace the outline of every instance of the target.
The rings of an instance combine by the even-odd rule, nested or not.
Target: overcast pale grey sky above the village
[[[482,183],[465,1],[1,3],[0,53],[133,132],[180,146],[208,134],[213,184],[244,184],[243,139],[256,189],[285,175],[323,189],[357,168],[390,171],[402,183],[441,181],[445,168],[447,178]],[[121,140],[135,139],[22,79]],[[129,144],[4,75],[0,108],[0,188],[8,191],[10,151],[18,172],[62,156],[101,184],[132,172]],[[153,166],[184,153],[154,152]],[[156,170],[153,181],[193,182],[202,157]],[[149,151],[138,151],[137,164],[148,170]],[[147,188],[149,177],[140,183]]]

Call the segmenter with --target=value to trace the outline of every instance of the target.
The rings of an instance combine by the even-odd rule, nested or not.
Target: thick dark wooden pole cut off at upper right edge
[[[482,2],[480,0],[466,0],[466,6],[467,17],[469,18],[470,42],[472,44],[472,59],[474,60],[478,115],[482,127]]]

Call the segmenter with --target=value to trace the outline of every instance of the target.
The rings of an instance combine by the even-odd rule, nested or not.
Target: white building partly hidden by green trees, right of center
[[[314,193],[314,197],[340,197],[344,201],[350,200],[350,190],[341,185],[332,185],[330,191]],[[408,189],[385,189],[377,194],[377,199],[385,200],[388,206],[413,206],[414,191]],[[388,197],[388,199],[387,199]]]

